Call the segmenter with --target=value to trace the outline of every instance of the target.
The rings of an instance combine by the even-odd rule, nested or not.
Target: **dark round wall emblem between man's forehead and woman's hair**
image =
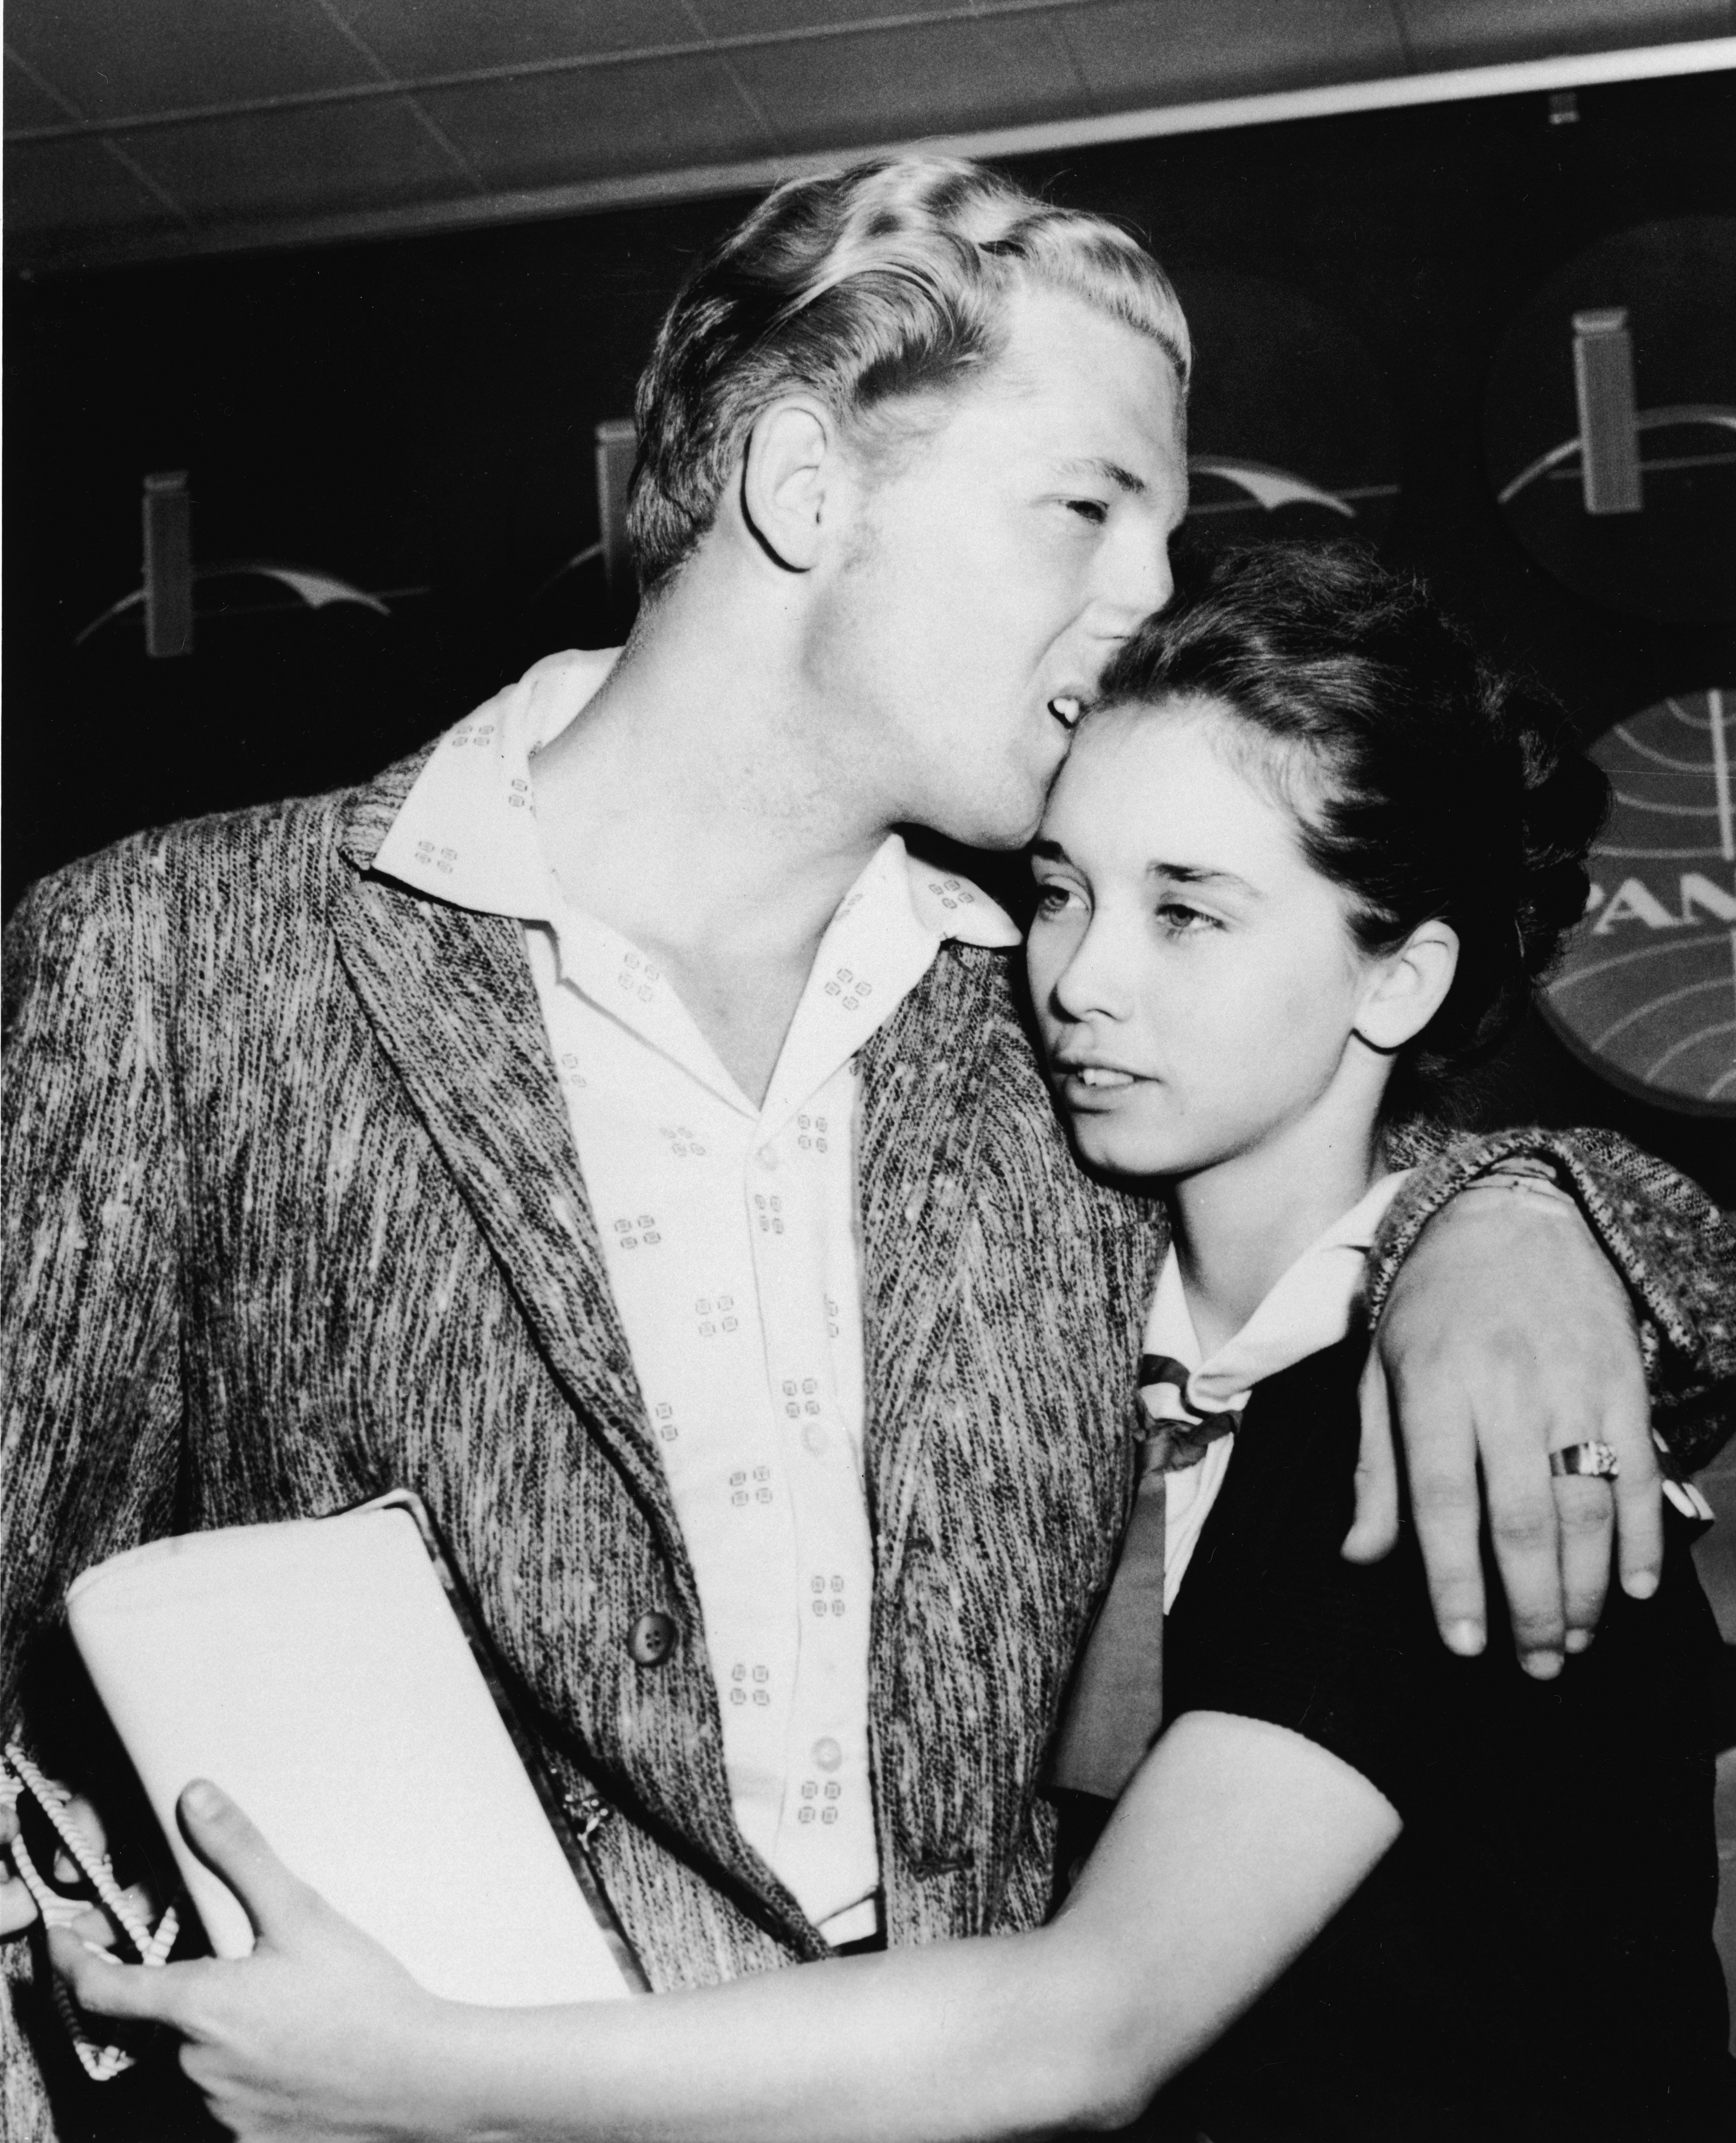
[[[1177,276],[1194,339],[1192,542],[1374,542],[1397,501],[1380,366],[1337,313],[1262,276]]]

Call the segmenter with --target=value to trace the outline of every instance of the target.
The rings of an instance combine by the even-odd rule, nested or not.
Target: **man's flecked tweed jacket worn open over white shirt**
[[[144,834],[9,930],[4,1659],[144,1537],[435,1513],[658,1987],[821,1952],[735,1828],[701,1607],[517,926],[371,870],[424,754]],[[1042,1757],[1127,1492],[1153,1204],[1089,1181],[1007,954],[949,943],[862,1059],[877,1830],[894,1944],[1042,1918]],[[1442,1147],[1376,1292],[1500,1151],[1552,1151],[1700,1451],[1732,1245],[1597,1136]],[[679,1629],[660,1665],[626,1635]],[[13,1697],[9,1695],[11,1704]]]

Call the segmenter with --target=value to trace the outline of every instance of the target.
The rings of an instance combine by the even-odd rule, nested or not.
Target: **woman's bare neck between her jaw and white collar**
[[[1299,1123],[1254,1153],[1170,1187],[1187,1312],[1207,1354],[1232,1339],[1273,1286],[1380,1174],[1372,1114]]]

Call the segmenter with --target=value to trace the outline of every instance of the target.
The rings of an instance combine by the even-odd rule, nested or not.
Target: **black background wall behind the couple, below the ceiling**
[[[1200,326],[1198,450],[1286,461],[1288,424],[1286,465],[1359,489],[1357,527],[1595,737],[1665,692],[1736,684],[1736,632],[1622,615],[1530,561],[1485,476],[1490,366],[1595,240],[1736,212],[1734,81],[1582,90],[1571,120],[1513,96],[1018,174],[1125,216],[1170,266]],[[6,904],[135,827],[366,776],[538,654],[607,641],[596,566],[544,585],[596,538],[592,429],[630,409],[686,261],[744,206],[15,281]],[[1273,306],[1297,336],[1277,371],[1245,332]],[[386,591],[390,615],[225,581],[201,589],[225,609],[186,660],[148,662],[137,613],[75,647],[139,581],[141,476],[182,467],[201,561],[317,566]],[[1200,506],[1194,540],[1348,529],[1211,482]],[[1730,1119],[1618,1093],[1541,1020],[1487,1106],[1616,1125],[1736,1204]]]

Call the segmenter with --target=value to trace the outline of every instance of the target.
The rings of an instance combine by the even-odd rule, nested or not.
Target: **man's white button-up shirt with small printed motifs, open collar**
[[[855,1052],[941,941],[1014,945],[889,836],[832,917],[754,1108],[669,977],[559,891],[529,754],[613,656],[538,662],[450,731],[375,868],[512,915],[705,1618],[748,1843],[832,1942],[879,1924],[868,1772]]]

